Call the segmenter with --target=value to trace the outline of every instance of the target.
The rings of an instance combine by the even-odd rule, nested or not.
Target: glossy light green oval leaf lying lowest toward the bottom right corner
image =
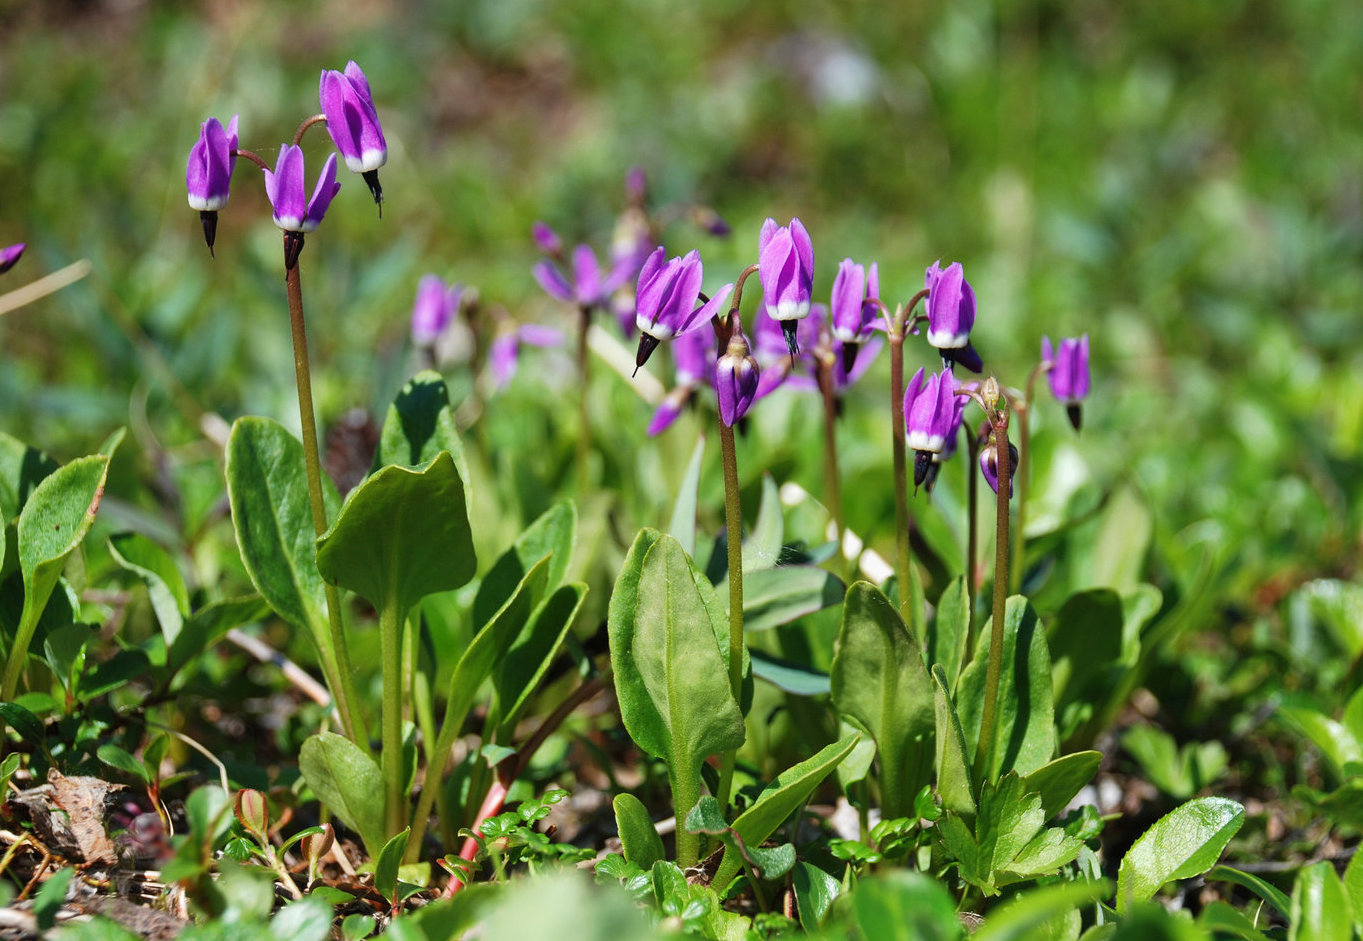
[[[1198,798],[1171,810],[1122,859],[1118,911],[1153,897],[1165,882],[1209,870],[1243,822],[1244,807],[1225,798]]]

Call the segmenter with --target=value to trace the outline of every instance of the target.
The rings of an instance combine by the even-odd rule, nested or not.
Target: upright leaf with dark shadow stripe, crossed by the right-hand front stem
[[[955,708],[968,746],[980,736],[992,618],[980,631],[970,666],[957,683]],[[1010,771],[1029,775],[1055,754],[1055,713],[1051,704],[1051,656],[1036,610],[1021,595],[1007,600],[1003,614],[1003,670],[995,715],[994,762],[985,780]]]

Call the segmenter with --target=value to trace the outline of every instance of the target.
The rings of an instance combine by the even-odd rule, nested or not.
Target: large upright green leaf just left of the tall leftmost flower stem
[[[244,417],[232,425],[226,457],[232,526],[251,584],[275,614],[309,630],[330,656],[303,445],[277,421]],[[327,517],[335,518],[341,498],[327,475],[322,490]]]

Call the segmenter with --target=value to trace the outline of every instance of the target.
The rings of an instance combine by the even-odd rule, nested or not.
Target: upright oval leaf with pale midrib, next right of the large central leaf
[[[848,589],[831,681],[838,712],[875,739],[885,816],[906,816],[932,761],[932,682],[898,611],[870,582]]]

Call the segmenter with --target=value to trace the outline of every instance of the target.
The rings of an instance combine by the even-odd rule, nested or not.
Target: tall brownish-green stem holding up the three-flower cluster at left
[[[285,233],[285,252],[290,233]],[[301,235],[298,236],[303,237]],[[294,260],[286,267],[285,286],[289,295],[289,329],[293,334],[293,371],[298,385],[298,423],[303,427],[303,462],[308,475],[308,501],[312,506],[312,529],[318,536],[327,531],[327,509],[322,499],[322,460],[318,455],[318,425],[312,409],[312,371],[308,364],[308,331],[303,319],[303,282],[298,265]],[[354,713],[354,681],[350,672],[350,655],[346,648],[345,630],[341,625],[341,593],[334,585],[326,585],[327,622],[331,637],[318,637],[322,655],[322,670],[341,716],[341,728],[356,745],[364,747],[368,738],[364,723]],[[399,828],[401,829],[401,828]]]

